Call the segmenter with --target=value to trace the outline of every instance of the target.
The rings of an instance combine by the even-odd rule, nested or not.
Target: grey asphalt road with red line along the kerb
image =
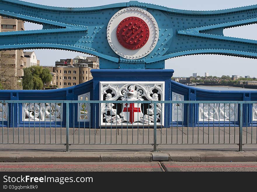
[[[27,162],[0,163],[4,171],[147,171],[147,172],[196,172],[196,171],[257,171],[257,162]]]

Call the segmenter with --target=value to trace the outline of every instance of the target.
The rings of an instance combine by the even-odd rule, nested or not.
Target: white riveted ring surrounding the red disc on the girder
[[[117,39],[117,27],[119,23],[128,17],[138,17],[145,21],[149,28],[149,39],[140,49],[131,50],[122,46]],[[126,59],[140,59],[147,56],[157,44],[159,39],[159,27],[154,17],[145,9],[128,7],[115,13],[107,26],[107,40],[112,50]]]

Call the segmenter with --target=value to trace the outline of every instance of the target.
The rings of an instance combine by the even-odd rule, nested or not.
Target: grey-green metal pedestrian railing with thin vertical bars
[[[257,101],[0,102],[0,144],[257,144]]]

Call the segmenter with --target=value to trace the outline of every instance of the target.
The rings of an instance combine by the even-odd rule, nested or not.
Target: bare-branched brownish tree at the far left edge
[[[11,51],[0,51],[0,83],[3,89],[17,89],[15,82],[15,65],[13,65],[13,54]]]

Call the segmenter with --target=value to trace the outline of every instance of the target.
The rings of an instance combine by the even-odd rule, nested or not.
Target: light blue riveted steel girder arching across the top
[[[123,58],[111,49],[107,25],[121,9],[148,11],[159,39],[140,59]],[[89,8],[61,8],[18,0],[0,0],[0,15],[38,23],[43,30],[0,33],[0,50],[62,49],[100,57],[100,68],[164,68],[164,60],[192,54],[257,58],[257,41],[226,37],[223,29],[257,22],[257,5],[218,11],[187,11],[138,1]]]

